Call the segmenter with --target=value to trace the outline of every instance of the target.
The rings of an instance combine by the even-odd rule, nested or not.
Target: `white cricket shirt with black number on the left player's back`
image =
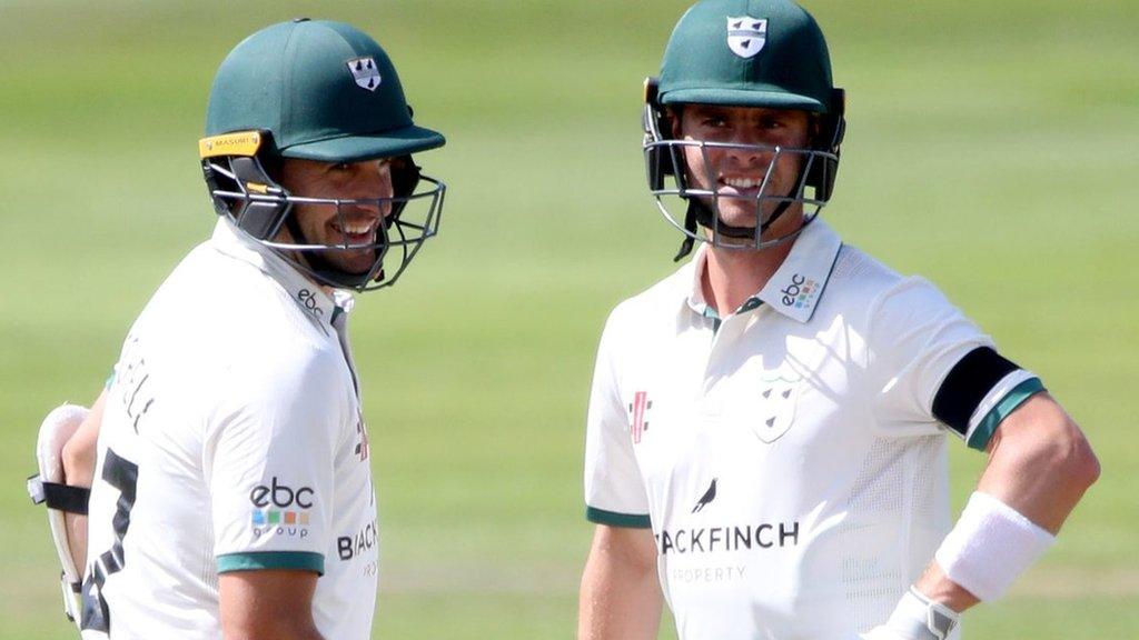
[[[90,502],[83,638],[221,638],[218,576],[320,574],[326,638],[370,637],[368,435],[327,296],[220,220],[131,328],[108,387]]]

